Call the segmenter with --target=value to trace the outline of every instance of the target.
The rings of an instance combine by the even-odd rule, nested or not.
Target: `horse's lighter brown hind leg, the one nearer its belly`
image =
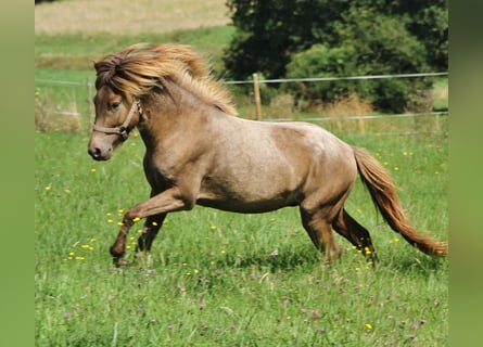
[[[327,213],[318,210],[309,214],[301,207],[302,224],[310,236],[314,245],[326,253],[326,259],[333,261],[341,255],[341,248],[332,232],[332,224],[326,219]]]

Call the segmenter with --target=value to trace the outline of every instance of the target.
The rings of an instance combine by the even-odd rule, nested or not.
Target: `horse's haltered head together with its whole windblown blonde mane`
[[[208,77],[204,62],[186,46],[134,44],[94,62],[94,68],[96,123],[89,154],[96,160],[111,158],[141,118],[138,100],[148,105],[149,95],[164,89],[163,80],[185,83],[217,108],[237,114],[229,93]]]

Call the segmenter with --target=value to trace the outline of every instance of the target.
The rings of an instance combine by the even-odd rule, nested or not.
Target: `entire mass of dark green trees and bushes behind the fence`
[[[228,4],[238,31],[225,64],[234,78],[254,72],[280,78],[447,69],[446,1],[231,0]],[[304,99],[330,101],[355,91],[380,111],[399,113],[427,111],[424,91],[431,81],[384,79],[302,87],[296,92]]]

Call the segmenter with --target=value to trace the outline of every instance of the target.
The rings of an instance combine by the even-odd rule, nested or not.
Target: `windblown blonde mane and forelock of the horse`
[[[161,79],[169,78],[223,112],[237,115],[228,90],[209,76],[204,61],[188,46],[138,43],[94,62],[94,68],[97,89],[106,85],[141,98],[160,86]]]

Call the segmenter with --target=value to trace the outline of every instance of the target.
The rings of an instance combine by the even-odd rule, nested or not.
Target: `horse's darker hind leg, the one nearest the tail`
[[[342,208],[332,222],[333,229],[347,239],[364,255],[369,256],[376,262],[378,257],[370,240],[369,231],[360,226],[347,211]]]

